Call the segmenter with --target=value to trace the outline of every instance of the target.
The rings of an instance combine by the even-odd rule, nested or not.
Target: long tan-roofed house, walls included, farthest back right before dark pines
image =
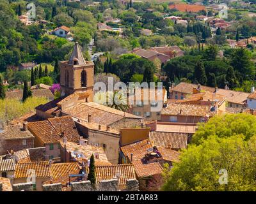
[[[184,99],[187,98],[190,94],[193,94],[193,90],[200,89],[201,92],[209,91],[216,92],[225,96],[226,101],[228,102],[229,107],[234,108],[243,108],[246,106],[246,99],[250,93],[241,92],[241,91],[232,91],[226,87],[226,89],[219,89],[214,87],[207,87],[204,85],[189,84],[186,82],[180,82],[178,85],[172,85],[170,87],[170,98],[171,99]]]

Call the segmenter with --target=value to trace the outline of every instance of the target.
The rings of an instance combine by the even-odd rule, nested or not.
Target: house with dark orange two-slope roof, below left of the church
[[[60,158],[60,141],[79,142],[80,135],[72,117],[55,117],[29,122],[28,130],[35,136],[35,147],[45,147],[45,159]]]

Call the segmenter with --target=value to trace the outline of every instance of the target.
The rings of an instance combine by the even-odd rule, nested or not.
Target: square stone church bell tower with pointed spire
[[[74,92],[88,92],[88,101],[93,101],[94,64],[85,61],[81,48],[75,43],[69,61],[60,62],[60,85],[62,95],[68,96]]]

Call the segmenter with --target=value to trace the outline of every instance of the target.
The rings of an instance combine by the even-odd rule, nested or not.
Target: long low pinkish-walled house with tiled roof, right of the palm
[[[186,103],[168,103],[161,111],[161,121],[196,124],[207,122],[216,115],[217,110],[211,105],[192,105]]]

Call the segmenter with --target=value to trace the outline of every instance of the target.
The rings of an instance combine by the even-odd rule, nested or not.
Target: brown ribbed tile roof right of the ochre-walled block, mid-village
[[[170,149],[186,149],[188,142],[188,133],[168,133],[151,131],[149,140],[157,147]]]

